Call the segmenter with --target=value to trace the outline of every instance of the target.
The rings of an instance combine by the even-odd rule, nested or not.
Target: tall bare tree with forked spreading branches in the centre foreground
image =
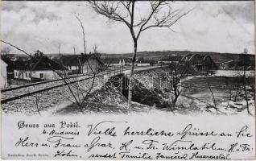
[[[109,19],[109,22],[123,23],[130,31],[130,35],[134,43],[134,55],[132,58],[132,65],[130,69],[130,83],[128,94],[128,108],[131,108],[132,99],[132,81],[134,75],[134,64],[136,61],[138,39],[143,31],[147,31],[153,27],[168,27],[174,25],[180,18],[188,14],[181,10],[173,10],[169,2],[156,1],[150,2],[150,13],[142,18],[135,13],[136,1],[119,1],[119,2],[99,2],[89,1],[89,5],[95,10],[97,14],[101,14]],[[139,10],[139,9],[138,9]],[[138,18],[138,19],[137,19]]]

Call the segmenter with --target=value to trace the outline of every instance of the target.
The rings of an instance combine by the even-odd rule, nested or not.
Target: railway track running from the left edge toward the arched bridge
[[[143,67],[136,67],[134,69],[141,70],[142,68]],[[130,68],[122,68],[122,70],[109,69],[104,72],[97,73],[96,77],[101,77],[101,76],[105,76],[105,75],[111,76],[111,74],[113,74],[113,76],[114,76],[115,74],[123,73],[125,71],[128,71],[129,69]],[[79,79],[76,79],[77,77],[79,77]],[[70,77],[68,77],[68,79],[69,79],[68,84],[73,84],[76,81],[89,80],[89,79],[92,79],[93,77],[94,77],[93,74],[91,74],[91,75],[83,75],[82,74],[79,76],[70,76]],[[64,85],[67,85],[67,84],[64,83],[63,79],[57,79],[57,80],[52,80],[52,81],[37,82],[37,83],[23,85],[23,86],[19,86],[19,87],[10,88],[10,89],[2,89],[1,90],[1,104],[5,104],[8,101],[14,101],[14,100],[20,99],[22,97],[31,96],[35,93],[42,93],[47,90],[56,89],[56,88],[59,88]]]

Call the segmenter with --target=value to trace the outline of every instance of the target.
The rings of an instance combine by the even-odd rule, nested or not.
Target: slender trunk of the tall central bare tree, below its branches
[[[128,109],[130,112],[131,109],[131,99],[132,99],[132,92],[133,92],[133,76],[134,76],[134,64],[136,61],[136,55],[137,55],[137,42],[134,42],[134,56],[131,64],[131,69],[130,69],[130,80],[129,80],[129,91],[128,91]]]

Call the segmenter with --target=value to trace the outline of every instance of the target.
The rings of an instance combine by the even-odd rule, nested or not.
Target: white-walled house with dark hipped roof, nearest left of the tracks
[[[14,68],[14,78],[27,81],[45,81],[59,78],[56,72],[66,70],[64,66],[47,58],[42,52],[36,52],[23,65]]]

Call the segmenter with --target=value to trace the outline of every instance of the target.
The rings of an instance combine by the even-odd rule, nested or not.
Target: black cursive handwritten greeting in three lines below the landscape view
[[[251,143],[253,128],[246,125],[230,129],[213,126],[209,130],[209,127],[200,129],[192,123],[164,128],[118,123],[124,122],[78,124],[74,120],[47,123],[47,126],[39,126],[42,139],[25,135],[14,140],[13,144],[17,150],[29,149],[31,152],[25,152],[26,156],[35,154],[39,147],[42,151],[50,151],[54,158],[62,159],[237,159],[252,156],[254,151]]]

